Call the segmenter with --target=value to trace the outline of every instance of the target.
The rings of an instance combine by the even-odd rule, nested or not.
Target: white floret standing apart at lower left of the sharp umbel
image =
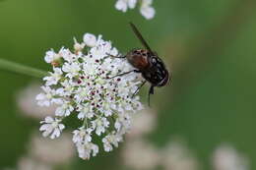
[[[61,120],[53,119],[50,116],[47,116],[44,121],[41,121],[40,124],[40,131],[42,131],[42,136],[47,137],[50,136],[51,139],[58,138],[60,136],[60,133],[65,128],[63,124],[59,124]]]

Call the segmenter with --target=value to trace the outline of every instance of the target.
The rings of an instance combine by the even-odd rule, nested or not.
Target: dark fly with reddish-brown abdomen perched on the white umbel
[[[150,94],[154,94],[154,87],[166,85],[169,80],[169,74],[164,66],[164,63],[160,60],[158,54],[151,50],[150,46],[145,41],[139,30],[132,23],[130,23],[130,26],[146,49],[133,49],[125,56],[119,57],[126,58],[128,62],[134,68],[136,68],[136,70],[126,72],[117,76],[123,76],[132,72],[141,73],[146,81],[144,81],[143,84],[137,88],[134,94],[136,94],[139,89],[143,85],[145,85],[146,82],[149,82],[151,84],[151,88],[149,91],[150,104]]]

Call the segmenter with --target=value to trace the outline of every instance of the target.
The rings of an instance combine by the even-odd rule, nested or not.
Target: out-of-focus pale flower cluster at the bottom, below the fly
[[[174,139],[159,148],[147,140],[158,123],[158,114],[151,109],[144,109],[134,115],[131,133],[123,145],[121,158],[123,165],[134,170],[201,170],[196,155],[182,139]],[[219,169],[218,169],[219,170]]]

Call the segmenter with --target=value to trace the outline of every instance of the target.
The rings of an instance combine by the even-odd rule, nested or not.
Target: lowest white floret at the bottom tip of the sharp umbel
[[[93,142],[78,143],[77,149],[79,157],[81,157],[82,159],[90,159],[91,154],[93,156],[96,156],[96,154],[98,153],[98,146]]]

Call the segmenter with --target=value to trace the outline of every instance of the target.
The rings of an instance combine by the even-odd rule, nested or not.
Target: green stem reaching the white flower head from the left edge
[[[13,72],[13,73],[31,76],[34,78],[42,78],[47,75],[47,73],[44,71],[34,69],[29,66],[24,66],[19,63],[7,61],[5,59],[0,59],[0,69]]]

